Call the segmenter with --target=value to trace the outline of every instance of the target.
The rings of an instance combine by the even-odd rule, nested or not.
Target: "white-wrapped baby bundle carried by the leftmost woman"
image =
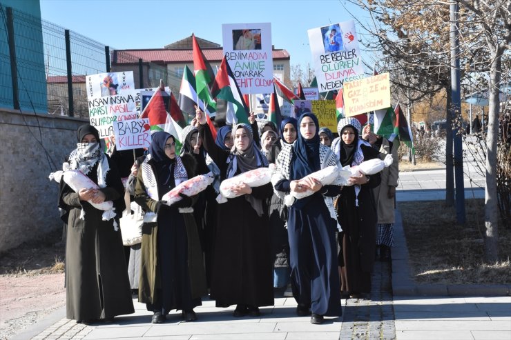
[[[64,163],[67,164],[67,163]],[[57,183],[60,183],[61,179],[64,179],[64,182],[73,189],[75,192],[79,192],[81,189],[99,189],[96,183],[94,183],[90,178],[88,178],[83,172],[79,170],[68,170],[68,167],[64,166],[64,171],[56,171],[52,172],[49,176],[50,180],[55,179]],[[112,201],[104,201],[103,203],[93,203],[93,201],[88,201],[91,206],[96,209],[104,210],[102,215],[103,221],[108,221],[109,219],[113,219],[115,217],[115,208],[113,208]],[[85,218],[85,212],[82,209],[80,213],[80,219]],[[118,230],[117,223],[114,221],[114,228]]]

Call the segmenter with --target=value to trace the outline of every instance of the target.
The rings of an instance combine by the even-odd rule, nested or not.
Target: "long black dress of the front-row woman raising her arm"
[[[204,148],[226,178],[229,152],[219,148],[207,125],[199,127]],[[271,183],[252,188],[252,195],[265,202],[273,188]],[[271,242],[269,218],[258,216],[245,195],[218,205],[217,234],[213,257],[211,296],[217,307],[235,304],[273,306]]]

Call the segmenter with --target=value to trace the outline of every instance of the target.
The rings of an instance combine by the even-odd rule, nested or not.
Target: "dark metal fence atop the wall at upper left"
[[[179,91],[180,76],[166,66],[1,4],[0,21],[4,108],[86,118],[85,77],[103,72],[133,71],[135,88],[156,87],[162,78],[171,90]],[[158,79],[153,79],[155,74]]]

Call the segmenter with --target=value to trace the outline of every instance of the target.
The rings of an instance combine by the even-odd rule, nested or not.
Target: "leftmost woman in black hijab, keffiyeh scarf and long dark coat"
[[[77,130],[77,148],[69,155],[71,170],[80,170],[99,189],[74,192],[61,181],[59,208],[68,223],[66,234],[66,317],[79,323],[131,314],[133,301],[117,217],[122,214],[124,187],[115,163],[102,152],[99,133],[89,124]],[[104,211],[88,201],[113,201],[117,222],[103,221]],[[116,223],[116,226],[114,226]]]

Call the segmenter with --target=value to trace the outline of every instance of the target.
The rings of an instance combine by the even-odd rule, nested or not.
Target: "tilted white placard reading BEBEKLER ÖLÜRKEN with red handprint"
[[[353,20],[307,32],[319,92],[338,90],[345,81],[363,79],[364,66]]]

